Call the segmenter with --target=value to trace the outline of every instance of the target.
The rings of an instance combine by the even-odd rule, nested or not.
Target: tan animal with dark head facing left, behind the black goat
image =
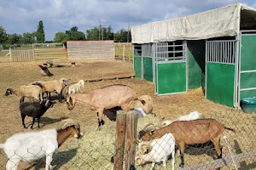
[[[20,86],[20,88],[7,88],[5,95],[9,96],[10,94],[15,94],[19,99],[20,103],[24,102],[24,97],[38,99],[39,101],[43,100],[43,91],[42,88],[38,86]]]

